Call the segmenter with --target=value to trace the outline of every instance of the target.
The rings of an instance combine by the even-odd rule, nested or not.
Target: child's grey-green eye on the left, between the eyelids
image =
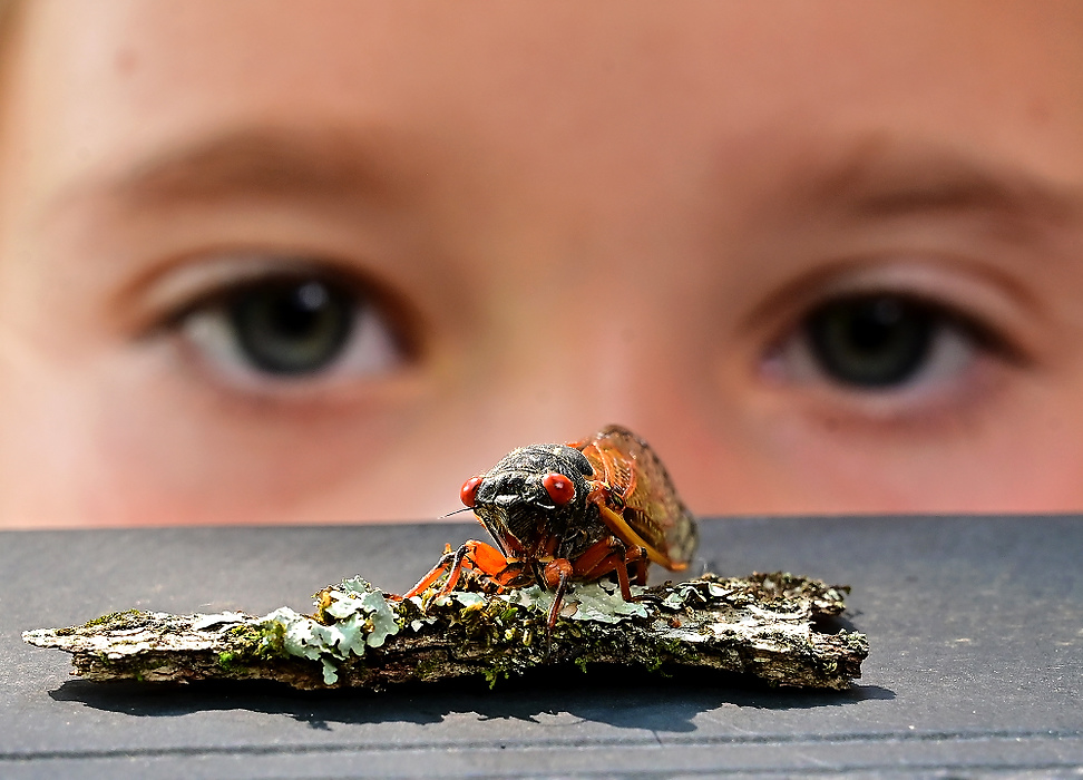
[[[182,315],[179,331],[198,358],[233,381],[379,374],[404,357],[372,296],[319,273],[217,291]]]

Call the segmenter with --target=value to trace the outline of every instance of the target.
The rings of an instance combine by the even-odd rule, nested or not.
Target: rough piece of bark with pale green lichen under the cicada
[[[477,586],[400,599],[354,577],[320,591],[312,615],[129,610],[23,638],[71,653],[75,673],[88,680],[276,680],[299,689],[382,690],[467,675],[492,685],[537,667],[619,664],[842,690],[868,655],[864,634],[818,630],[820,618],[842,613],[849,588],[783,573],[634,588],[632,603],[614,584],[578,584],[552,636],[552,593]]]

